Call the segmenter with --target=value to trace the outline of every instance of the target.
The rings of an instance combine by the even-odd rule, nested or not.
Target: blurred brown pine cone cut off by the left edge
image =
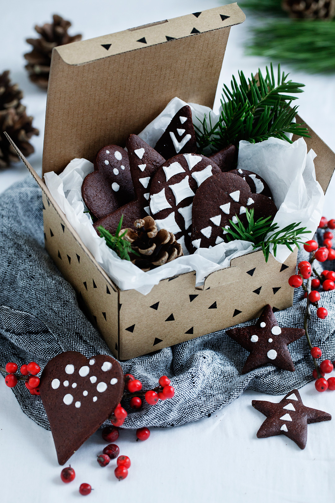
[[[34,152],[33,145],[29,143],[30,138],[33,134],[39,134],[39,130],[32,126],[33,117],[27,116],[26,107],[20,101],[23,93],[18,84],[11,83],[9,73],[6,70],[0,74],[0,169],[19,160],[4,131],[26,157]]]

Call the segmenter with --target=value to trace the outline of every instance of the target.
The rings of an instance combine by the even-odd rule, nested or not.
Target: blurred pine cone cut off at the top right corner
[[[335,0],[282,0],[282,8],[291,18],[332,19]]]

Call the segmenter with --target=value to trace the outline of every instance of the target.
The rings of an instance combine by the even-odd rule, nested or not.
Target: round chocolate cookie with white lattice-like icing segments
[[[208,157],[187,153],[163,162],[150,188],[150,214],[158,229],[173,232],[183,250],[189,248],[192,202],[198,187],[221,173]]]

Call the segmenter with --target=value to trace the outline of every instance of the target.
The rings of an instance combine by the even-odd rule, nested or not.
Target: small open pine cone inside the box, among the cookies
[[[150,271],[183,255],[183,249],[177,243],[174,234],[166,229],[158,231],[152,217],[136,220],[134,227],[137,228],[136,231],[123,229],[120,234],[126,232],[124,239],[127,239],[132,249],[140,255],[139,257],[130,254],[130,259],[142,271]]]

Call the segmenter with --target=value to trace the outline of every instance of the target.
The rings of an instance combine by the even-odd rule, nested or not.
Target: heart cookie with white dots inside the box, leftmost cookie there
[[[106,145],[96,154],[94,171],[81,186],[82,198],[96,218],[108,215],[135,197],[128,153],[118,145]]]

